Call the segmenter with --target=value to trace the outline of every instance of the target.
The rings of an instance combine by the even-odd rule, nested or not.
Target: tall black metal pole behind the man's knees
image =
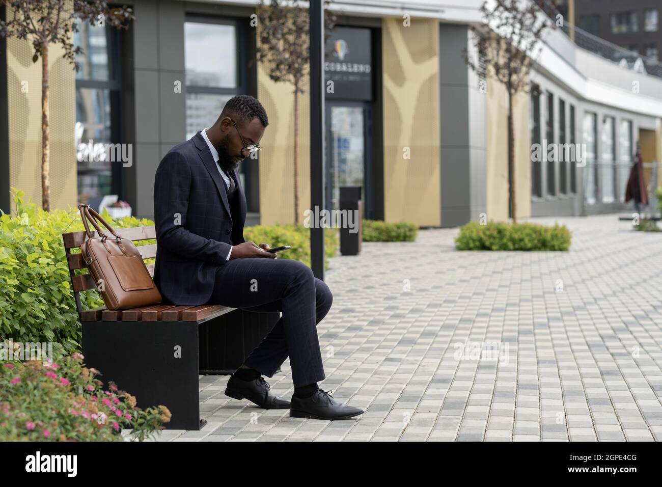
[[[324,6],[310,0],[310,263],[324,280],[324,228],[316,228],[324,209]]]

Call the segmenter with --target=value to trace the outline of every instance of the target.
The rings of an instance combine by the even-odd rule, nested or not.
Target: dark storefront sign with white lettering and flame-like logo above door
[[[372,99],[372,58],[369,28],[336,27],[326,42],[326,99]],[[329,91],[328,81],[333,81]]]

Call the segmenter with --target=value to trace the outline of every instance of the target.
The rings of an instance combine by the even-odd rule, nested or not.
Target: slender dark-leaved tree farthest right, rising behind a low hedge
[[[469,67],[480,78],[493,76],[508,92],[508,199],[516,222],[515,145],[512,103],[517,93],[528,93],[529,73],[547,28],[555,25],[534,1],[493,0],[481,6],[483,25],[472,27],[477,58],[465,54]]]

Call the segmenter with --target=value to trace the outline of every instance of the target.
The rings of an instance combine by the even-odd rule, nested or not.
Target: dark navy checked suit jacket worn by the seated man
[[[226,264],[232,245],[244,242],[246,195],[238,168],[235,204],[198,132],[174,146],[154,178],[156,265],[154,282],[164,300],[178,305],[207,303],[216,268]]]

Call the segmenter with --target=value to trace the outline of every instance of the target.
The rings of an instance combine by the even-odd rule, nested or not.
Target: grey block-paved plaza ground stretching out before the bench
[[[662,233],[528,220],[566,224],[571,250],[458,252],[457,229],[427,229],[332,259],[320,385],[357,419],[290,418],[200,376],[207,425],[154,441],[662,439]],[[275,394],[291,397],[289,376],[286,361]]]

